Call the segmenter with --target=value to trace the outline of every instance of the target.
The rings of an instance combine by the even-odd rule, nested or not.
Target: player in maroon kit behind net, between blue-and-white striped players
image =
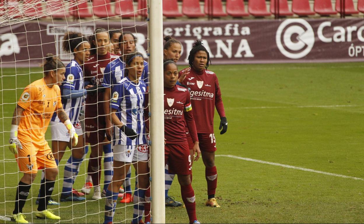
[[[106,65],[118,56],[109,52],[110,38],[106,29],[96,28],[95,33],[90,37],[90,43],[91,55],[84,65],[85,81],[90,82],[92,85],[100,85],[103,81],[103,73]],[[110,129],[107,129],[106,126],[103,109],[103,92],[101,90],[102,88],[99,88],[97,93],[87,95],[85,108],[86,142],[91,144],[91,155],[87,172],[91,173],[92,182],[95,186],[92,199],[100,199],[102,196],[99,182],[103,151],[105,152],[104,190],[107,189],[108,183],[111,182],[112,178],[111,133]],[[105,134],[107,135],[107,139],[105,139]],[[88,194],[91,187],[92,184],[87,180],[82,191]]]

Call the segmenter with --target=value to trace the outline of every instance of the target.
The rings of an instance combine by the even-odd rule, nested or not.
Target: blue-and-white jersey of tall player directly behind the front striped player
[[[122,57],[115,59],[114,61],[107,64],[104,70],[104,79],[102,81],[102,85],[107,88],[112,88],[112,85],[115,85],[120,80],[124,78],[124,68],[125,62],[123,62]],[[145,84],[149,82],[148,80],[148,63],[144,61],[144,70],[142,76],[140,77]],[[146,84],[148,85],[148,84]]]

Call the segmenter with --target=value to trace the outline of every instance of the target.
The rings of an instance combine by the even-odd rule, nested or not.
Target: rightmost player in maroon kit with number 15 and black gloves
[[[190,88],[193,115],[196,118],[196,129],[201,148],[203,164],[205,164],[205,175],[207,181],[208,200],[206,206],[220,207],[215,199],[217,186],[217,170],[215,166],[216,140],[214,135],[214,112],[215,107],[220,116],[220,134],[227,131],[227,120],[221,99],[221,91],[217,76],[214,72],[207,70],[210,61],[209,52],[201,41],[195,42],[189,57],[190,72],[185,73],[183,85]],[[182,76],[182,70],[179,75]],[[189,142],[192,141],[191,130],[187,135]]]

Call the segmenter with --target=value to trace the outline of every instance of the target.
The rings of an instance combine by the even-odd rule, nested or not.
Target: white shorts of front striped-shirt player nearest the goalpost
[[[126,146],[117,144],[114,146],[114,160],[119,162],[131,163],[133,161],[147,161],[148,160],[148,145],[142,144],[137,146]]]

